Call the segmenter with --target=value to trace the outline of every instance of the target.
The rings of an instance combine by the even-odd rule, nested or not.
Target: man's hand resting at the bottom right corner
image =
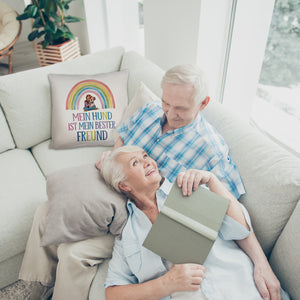
[[[273,273],[269,264],[254,266],[254,281],[261,297],[264,300],[281,299],[280,282]]]

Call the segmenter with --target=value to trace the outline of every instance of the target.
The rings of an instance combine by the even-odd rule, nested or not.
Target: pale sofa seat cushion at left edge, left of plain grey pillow
[[[25,249],[34,212],[46,201],[46,181],[28,150],[0,155],[0,261]]]

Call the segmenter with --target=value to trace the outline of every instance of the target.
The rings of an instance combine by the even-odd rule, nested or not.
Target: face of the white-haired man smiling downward
[[[164,84],[162,109],[171,129],[184,127],[195,120],[201,105],[193,99],[194,87],[190,84]]]

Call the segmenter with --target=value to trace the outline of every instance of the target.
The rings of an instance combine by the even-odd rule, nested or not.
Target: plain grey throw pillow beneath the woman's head
[[[104,182],[94,165],[57,171],[47,177],[49,211],[42,246],[111,233],[127,222],[126,197]]]

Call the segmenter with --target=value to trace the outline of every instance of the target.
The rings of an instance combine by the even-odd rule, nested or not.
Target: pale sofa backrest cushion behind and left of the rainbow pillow
[[[51,136],[48,74],[96,74],[118,71],[121,47],[0,78],[0,104],[18,148],[27,149]]]

